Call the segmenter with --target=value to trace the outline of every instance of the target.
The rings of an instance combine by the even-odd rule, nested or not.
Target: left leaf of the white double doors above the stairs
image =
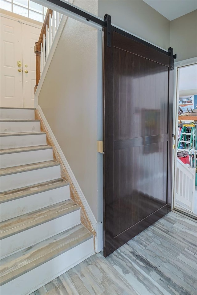
[[[17,64],[18,61],[22,64],[22,24],[4,17],[0,17],[0,22],[0,106],[22,108],[22,66]]]

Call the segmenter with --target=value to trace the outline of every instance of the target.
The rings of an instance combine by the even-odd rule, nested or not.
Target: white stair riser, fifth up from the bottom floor
[[[53,160],[53,149],[0,155],[1,168]]]

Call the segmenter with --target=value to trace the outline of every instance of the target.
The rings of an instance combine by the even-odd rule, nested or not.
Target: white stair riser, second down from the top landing
[[[1,133],[39,132],[40,122],[1,122]]]

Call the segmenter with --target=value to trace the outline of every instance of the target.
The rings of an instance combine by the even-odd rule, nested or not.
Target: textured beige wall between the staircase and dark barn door
[[[95,1],[73,4],[97,14]],[[67,19],[38,104],[98,220],[97,37],[97,29]]]

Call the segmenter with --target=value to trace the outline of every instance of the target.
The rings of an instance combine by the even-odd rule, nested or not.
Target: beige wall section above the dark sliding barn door
[[[98,16],[163,49],[170,47],[170,21],[144,1],[98,0]]]

